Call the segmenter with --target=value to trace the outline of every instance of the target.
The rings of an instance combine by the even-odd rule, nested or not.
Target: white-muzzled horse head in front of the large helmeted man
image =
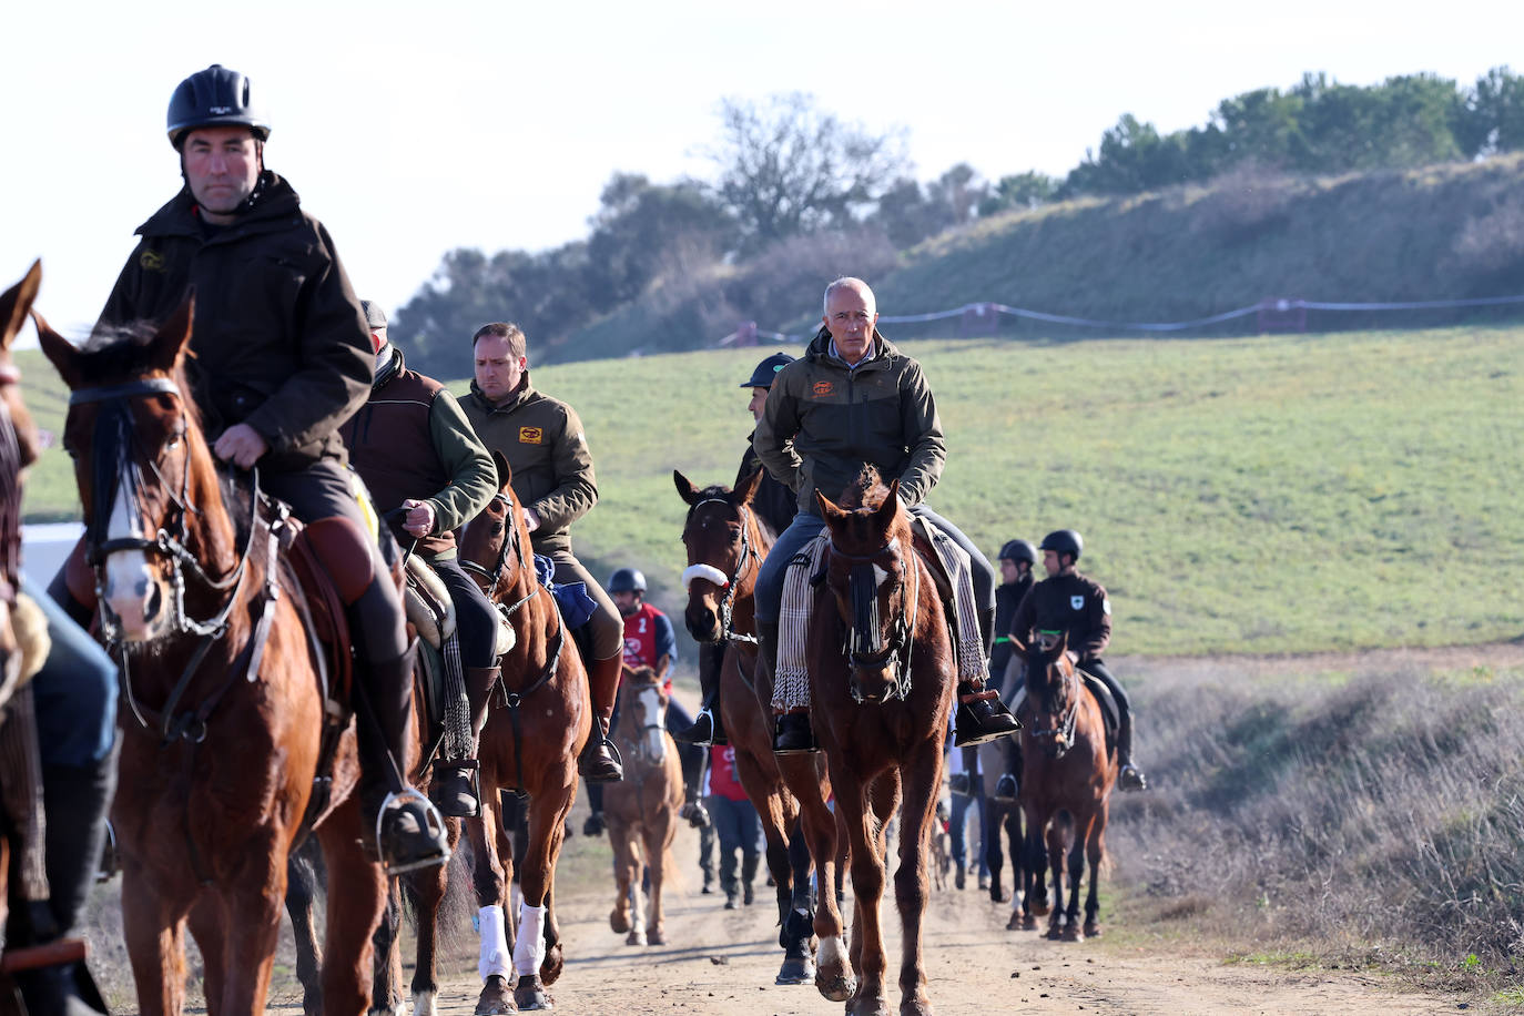
[[[183,373],[192,297],[160,327],[96,334],[82,349],[34,312],[43,352],[69,385],[64,449],[85,518],[85,559],[111,641],[201,632],[186,614],[242,574],[212,452]],[[186,573],[197,582],[186,585]],[[229,600],[230,602],[230,600]]]

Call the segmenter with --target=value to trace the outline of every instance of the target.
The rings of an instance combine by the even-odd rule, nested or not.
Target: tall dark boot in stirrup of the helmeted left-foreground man
[[[361,812],[375,823],[376,851],[389,874],[427,868],[450,861],[445,823],[427,797],[407,784],[402,766],[413,733],[413,663],[418,641],[408,643],[401,657],[369,661],[357,696],[370,704],[361,717],[360,765],[364,780]]]

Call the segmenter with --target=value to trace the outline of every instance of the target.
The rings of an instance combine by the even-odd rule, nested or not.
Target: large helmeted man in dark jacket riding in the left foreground
[[[303,522],[334,521],[369,577],[351,591],[351,631],[375,722],[360,722],[367,829],[390,867],[448,858],[443,823],[401,778],[413,714],[413,655],[386,553],[344,469],[338,427],[370,393],[373,356],[364,312],[328,230],[302,210],[291,184],[265,169],[270,120],[244,75],[213,64],[169,101],[169,143],[180,192],[143,225],[101,314],[99,329],[162,323],[195,292],[187,372],[218,458],[258,468],[261,489]],[[88,576],[82,544],[64,576]],[[358,596],[355,596],[358,594]],[[94,594],[64,594],[88,617]],[[84,605],[90,606],[84,606]],[[361,711],[364,716],[364,711]],[[166,830],[168,833],[169,830]]]

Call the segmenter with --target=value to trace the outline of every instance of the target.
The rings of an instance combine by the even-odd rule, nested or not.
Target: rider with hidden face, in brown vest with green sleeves
[[[472,775],[475,737],[498,676],[497,611],[456,561],[454,530],[497,494],[497,468],[456,398],[433,378],[408,370],[402,350],[387,341],[386,312],[370,300],[360,305],[376,350],[376,373],[370,399],[340,434],[392,532],[428,562],[456,606],[457,679],[463,678],[465,687],[447,685],[445,695],[463,695],[466,708],[447,702],[431,797],[445,815],[471,818],[482,810]]]

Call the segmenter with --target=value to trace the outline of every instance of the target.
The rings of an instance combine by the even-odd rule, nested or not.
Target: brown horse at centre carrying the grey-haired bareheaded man
[[[930,896],[927,859],[942,745],[952,710],[956,661],[942,599],[899,506],[899,483],[876,472],[847,487],[838,507],[815,492],[831,538],[815,589],[806,660],[815,737],[831,765],[852,855],[856,909],[849,1016],[888,1013],[879,928],[887,824],[904,791],[895,900],[904,923],[899,1011],[930,1013],[920,923]],[[821,938],[824,973],[838,943]]]

